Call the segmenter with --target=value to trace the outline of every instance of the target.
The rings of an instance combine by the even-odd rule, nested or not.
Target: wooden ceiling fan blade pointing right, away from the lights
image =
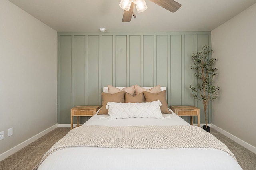
[[[181,4],[174,0],[150,0],[154,2],[155,4],[158,4],[159,6],[162,6],[166,10],[170,12],[176,12],[180,7]]]

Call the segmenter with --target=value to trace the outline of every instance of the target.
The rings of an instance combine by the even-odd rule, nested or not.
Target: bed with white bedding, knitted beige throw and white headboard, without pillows
[[[161,87],[161,91],[165,90]],[[103,91],[107,93],[108,89]],[[162,113],[161,118],[109,119],[110,115],[99,114],[99,110],[84,125],[74,128],[59,144],[52,146],[38,170],[242,169],[232,152],[212,134],[168,111]],[[154,132],[152,137],[151,131],[160,133]],[[202,141],[198,142],[199,134],[202,134]],[[140,142],[144,138],[145,143]],[[84,140],[89,142],[81,145]],[[208,147],[214,145],[205,144],[210,140],[220,147]],[[200,142],[206,147],[194,146]]]

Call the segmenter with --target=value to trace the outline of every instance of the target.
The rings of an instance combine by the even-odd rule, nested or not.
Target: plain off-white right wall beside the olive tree
[[[256,147],[256,4],[212,30],[220,87],[212,124]]]

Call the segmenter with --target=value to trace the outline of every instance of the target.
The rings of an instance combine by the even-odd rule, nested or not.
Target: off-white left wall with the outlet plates
[[[57,32],[0,0],[0,156],[56,125],[56,104]]]

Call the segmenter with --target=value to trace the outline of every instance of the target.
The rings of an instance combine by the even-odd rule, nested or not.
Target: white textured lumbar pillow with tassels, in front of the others
[[[116,103],[108,102],[106,109],[108,109],[107,119],[120,118],[158,118],[163,119],[160,110],[162,103],[160,100],[143,103]]]

